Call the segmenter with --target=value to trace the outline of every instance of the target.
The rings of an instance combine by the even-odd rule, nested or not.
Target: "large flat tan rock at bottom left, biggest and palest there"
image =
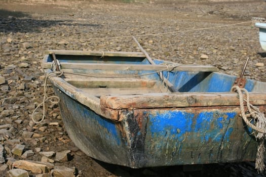
[[[45,173],[54,168],[52,163],[38,162],[31,160],[18,160],[13,163],[13,167],[29,170],[33,173]]]

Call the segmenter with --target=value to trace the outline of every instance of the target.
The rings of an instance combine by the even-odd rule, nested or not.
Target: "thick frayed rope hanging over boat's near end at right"
[[[233,86],[231,91],[237,92],[239,95],[239,101],[240,101],[240,109],[241,109],[241,116],[245,123],[250,126],[252,129],[255,130],[255,138],[259,141],[259,146],[257,148],[257,154],[256,154],[256,163],[255,163],[255,169],[257,169],[258,172],[262,173],[265,169],[264,164],[264,141],[266,139],[266,118],[263,113],[259,111],[259,109],[249,103],[249,93],[246,89],[240,89],[239,86]],[[243,98],[243,93],[246,95],[246,99]],[[246,102],[248,114],[245,114],[244,109],[244,101]],[[254,123],[251,123],[247,119],[247,117],[252,117],[254,120]]]

